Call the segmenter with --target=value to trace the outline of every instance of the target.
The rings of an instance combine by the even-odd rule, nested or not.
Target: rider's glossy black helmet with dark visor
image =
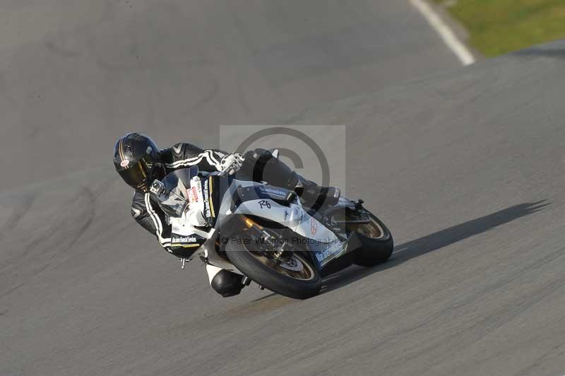
[[[153,180],[165,175],[157,145],[140,133],[126,134],[116,142],[114,167],[124,182],[143,192],[148,192]]]

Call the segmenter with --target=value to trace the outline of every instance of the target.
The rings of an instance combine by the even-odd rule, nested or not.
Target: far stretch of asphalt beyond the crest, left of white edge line
[[[0,49],[2,190],[459,66],[408,0],[3,0]]]

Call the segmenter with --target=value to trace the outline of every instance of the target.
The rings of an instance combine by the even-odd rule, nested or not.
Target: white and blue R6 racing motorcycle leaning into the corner
[[[172,247],[198,248],[190,259],[200,257],[207,269],[233,271],[245,286],[253,281],[290,298],[317,295],[324,276],[374,266],[393,252],[391,232],[360,199],[307,208],[295,191],[197,166],[155,180],[150,192],[172,225]],[[191,225],[193,209],[206,225]]]

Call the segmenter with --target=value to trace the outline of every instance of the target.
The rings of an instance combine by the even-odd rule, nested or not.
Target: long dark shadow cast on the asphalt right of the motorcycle
[[[410,259],[447,247],[448,245],[465,240],[468,237],[486,233],[499,225],[504,225],[518,218],[536,213],[549,204],[547,200],[541,200],[510,206],[509,208],[496,211],[487,216],[475,218],[471,221],[463,222],[451,226],[450,228],[437,231],[436,233],[411,240],[410,242],[405,242],[395,247],[391,260],[385,264],[371,269],[359,270],[359,268],[348,268],[326,278],[324,280],[323,293],[343,287],[378,271],[398,266]]]

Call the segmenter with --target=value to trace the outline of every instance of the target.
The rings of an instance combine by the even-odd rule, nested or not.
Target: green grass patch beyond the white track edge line
[[[565,38],[565,0],[456,0],[446,8],[487,57]]]

